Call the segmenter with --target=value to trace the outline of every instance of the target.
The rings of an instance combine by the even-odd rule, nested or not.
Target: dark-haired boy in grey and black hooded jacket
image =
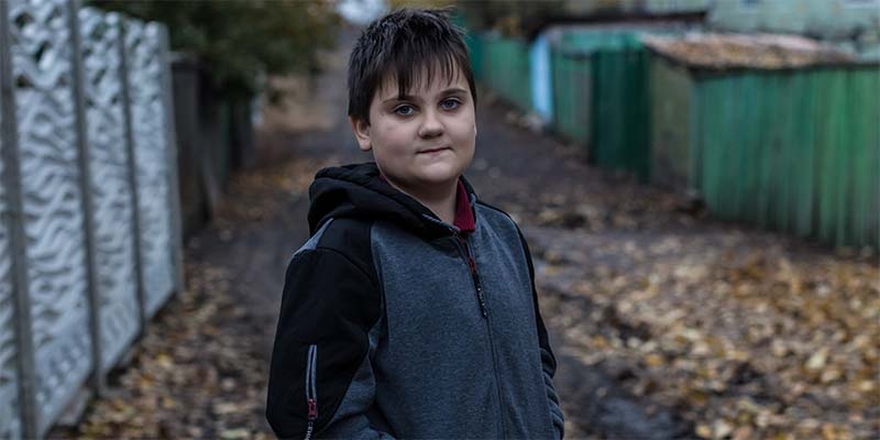
[[[311,185],[272,355],[278,437],[562,437],[528,248],[462,177],[475,101],[443,11],[393,12],[359,38],[349,117],[375,163]]]

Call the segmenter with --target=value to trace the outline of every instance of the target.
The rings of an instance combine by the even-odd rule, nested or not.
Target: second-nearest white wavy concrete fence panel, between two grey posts
[[[113,366],[141,329],[120,22],[117,14],[79,11],[102,371]]]

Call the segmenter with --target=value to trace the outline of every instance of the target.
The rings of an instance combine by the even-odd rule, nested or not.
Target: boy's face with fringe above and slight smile
[[[361,150],[372,151],[385,177],[410,195],[455,183],[473,160],[474,101],[464,76],[453,78],[432,75],[406,96],[386,78],[370,105],[371,123],[351,121]]]

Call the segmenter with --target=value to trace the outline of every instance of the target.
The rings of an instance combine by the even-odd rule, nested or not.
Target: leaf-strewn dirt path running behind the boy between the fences
[[[187,243],[187,292],[86,420],[53,437],[271,436],[267,360],[308,184],[367,158],[344,118],[344,56],[328,65],[297,111],[329,122],[261,133],[260,165]],[[480,101],[468,176],[529,240],[569,438],[877,437],[875,257],[685,212]]]

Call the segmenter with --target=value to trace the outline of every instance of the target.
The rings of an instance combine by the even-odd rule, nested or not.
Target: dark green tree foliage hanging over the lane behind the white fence
[[[91,6],[168,26],[174,51],[199,56],[228,96],[258,91],[258,78],[320,69],[340,19],[329,1],[95,0]]]

